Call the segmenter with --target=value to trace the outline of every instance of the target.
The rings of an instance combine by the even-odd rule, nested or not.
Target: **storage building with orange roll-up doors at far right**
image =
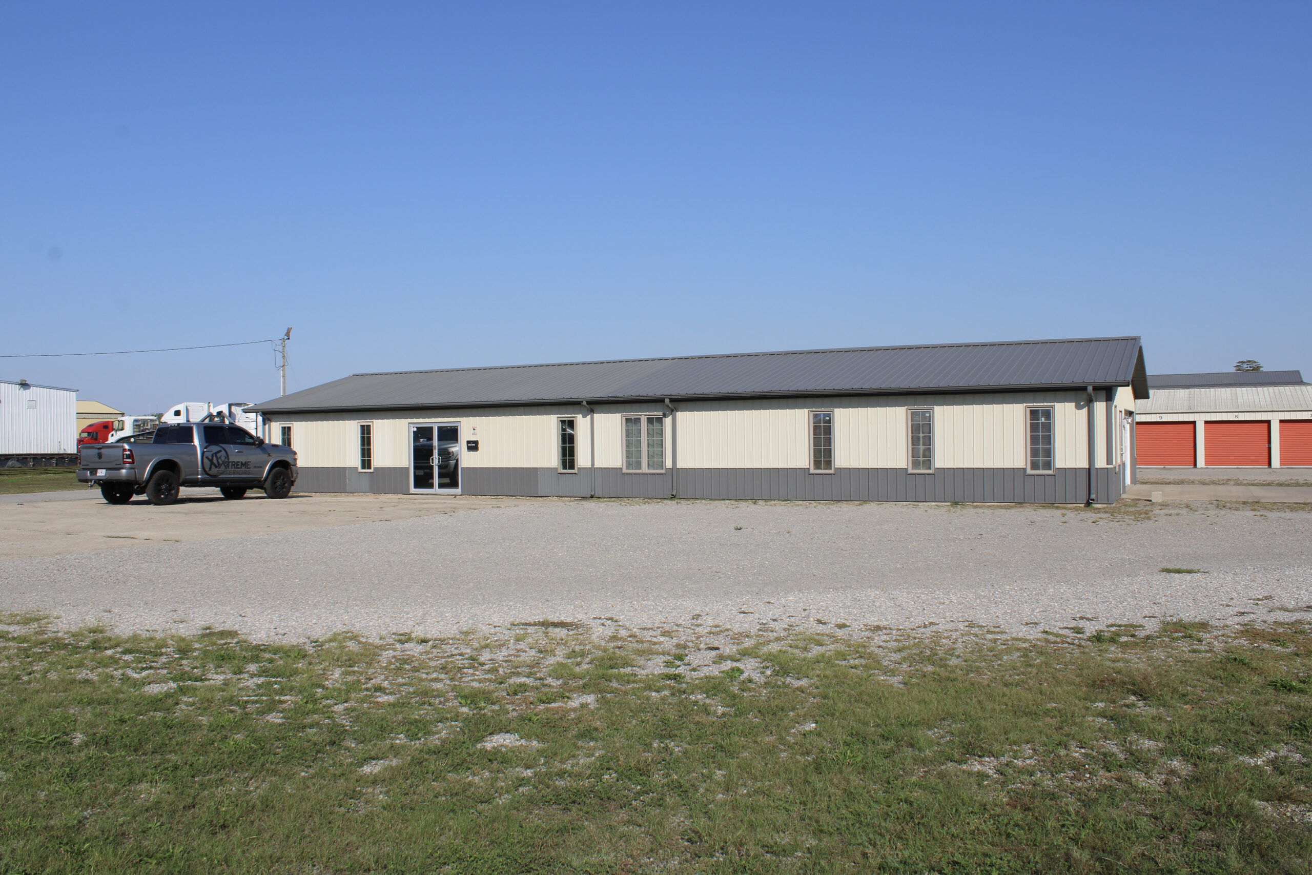
[[[1148,387],[1139,466],[1312,466],[1312,386],[1299,371],[1149,374]]]

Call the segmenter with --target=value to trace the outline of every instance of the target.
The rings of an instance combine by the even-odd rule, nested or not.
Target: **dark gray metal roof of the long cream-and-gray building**
[[[1134,386],[1135,397],[1147,397],[1145,376],[1138,337],[1096,337],[352,374],[253,409],[291,413],[1089,384]]]

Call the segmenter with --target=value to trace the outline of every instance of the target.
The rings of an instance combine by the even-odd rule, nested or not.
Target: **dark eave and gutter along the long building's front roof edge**
[[[987,395],[994,392],[1065,392],[1065,391],[1084,391],[1090,383],[1088,380],[1078,383],[1023,383],[1014,386],[935,386],[935,387],[913,387],[913,388],[848,388],[848,390],[806,390],[795,392],[707,392],[707,394],[690,394],[690,395],[672,395],[661,392],[659,395],[625,395],[625,396],[601,396],[601,395],[586,395],[579,397],[547,397],[547,399],[518,399],[518,400],[504,400],[504,401],[411,401],[405,404],[307,404],[307,405],[287,405],[287,407],[264,407],[256,404],[251,411],[264,413],[265,416],[276,416],[278,413],[357,413],[361,411],[451,411],[461,408],[495,408],[495,407],[550,407],[558,404],[583,404],[588,401],[589,404],[638,404],[638,403],[655,403],[663,401],[664,399],[681,400],[681,401],[735,401],[735,400],[750,400],[750,399],[775,399],[775,397],[855,397],[855,396],[879,396],[879,395]],[[1092,383],[1094,388],[1111,388],[1134,386],[1132,382],[1127,380],[1094,380]],[[1147,390],[1147,386],[1145,386]],[[1147,394],[1147,392],[1145,392]],[[1135,397],[1139,397],[1139,392],[1135,392]]]

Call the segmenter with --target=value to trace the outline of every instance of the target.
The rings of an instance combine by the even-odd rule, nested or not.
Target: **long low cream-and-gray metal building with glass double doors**
[[[298,489],[1115,501],[1138,337],[354,374],[256,405]]]

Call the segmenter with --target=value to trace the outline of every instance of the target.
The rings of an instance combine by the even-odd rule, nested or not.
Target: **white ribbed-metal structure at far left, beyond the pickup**
[[[77,390],[0,380],[0,466],[73,464]]]

